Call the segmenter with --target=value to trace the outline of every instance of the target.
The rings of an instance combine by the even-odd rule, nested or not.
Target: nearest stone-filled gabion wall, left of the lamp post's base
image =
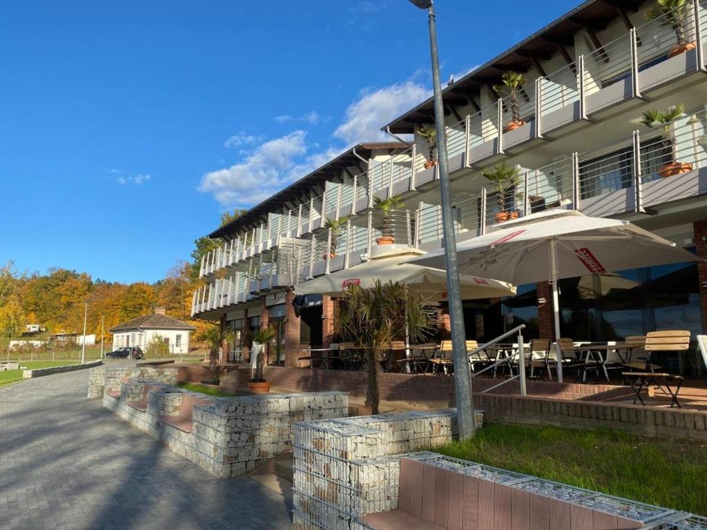
[[[484,413],[476,411],[479,425]],[[295,427],[293,528],[358,529],[356,516],[392,507],[381,476],[399,455],[457,437],[455,409],[357,416]],[[397,490],[395,491],[397,498]],[[396,500],[397,502],[397,500]],[[376,504],[378,503],[378,504]]]

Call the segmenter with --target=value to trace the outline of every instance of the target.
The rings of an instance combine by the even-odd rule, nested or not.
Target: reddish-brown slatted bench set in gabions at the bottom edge
[[[369,529],[640,529],[641,522],[421,461],[402,459],[397,510],[359,518]]]

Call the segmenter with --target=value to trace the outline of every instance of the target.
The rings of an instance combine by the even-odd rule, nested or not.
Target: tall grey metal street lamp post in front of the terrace
[[[447,263],[447,290],[449,314],[452,325],[452,358],[454,361],[454,390],[457,401],[457,425],[460,440],[474,435],[474,406],[472,403],[472,378],[467,359],[467,334],[464,330],[464,312],[459,289],[457,270],[457,242],[454,233],[452,199],[450,194],[449,170],[447,164],[447,137],[445,134],[444,108],[440,64],[437,51],[437,31],[435,27],[435,7],[432,0],[410,0],[412,4],[427,9],[430,26],[430,51],[432,55],[432,85],[435,103],[435,126],[437,131],[437,171],[440,180],[442,203],[442,231],[444,252]]]

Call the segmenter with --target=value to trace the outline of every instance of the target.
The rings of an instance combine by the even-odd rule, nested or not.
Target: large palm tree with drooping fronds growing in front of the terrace
[[[352,285],[346,290],[334,324],[340,336],[354,338],[366,348],[366,406],[378,414],[378,376],[385,348],[406,329],[414,342],[431,335],[436,310],[409,293],[406,285],[377,280],[369,289]]]

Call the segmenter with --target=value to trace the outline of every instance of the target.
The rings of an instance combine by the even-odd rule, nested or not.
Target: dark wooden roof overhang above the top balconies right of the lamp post
[[[450,107],[469,105],[469,99],[479,94],[484,86],[493,86],[501,81],[506,71],[525,73],[539,61],[548,60],[551,54],[561,52],[564,47],[574,44],[574,35],[589,28],[602,30],[607,24],[622,16],[622,11],[638,11],[643,0],[588,0],[554,22],[522,40],[486,64],[467,73],[459,81],[442,91],[445,114],[451,114]],[[566,51],[566,50],[565,50]],[[416,126],[434,122],[433,99],[422,102],[412,110],[397,117],[389,124],[393,134],[412,134]]]

